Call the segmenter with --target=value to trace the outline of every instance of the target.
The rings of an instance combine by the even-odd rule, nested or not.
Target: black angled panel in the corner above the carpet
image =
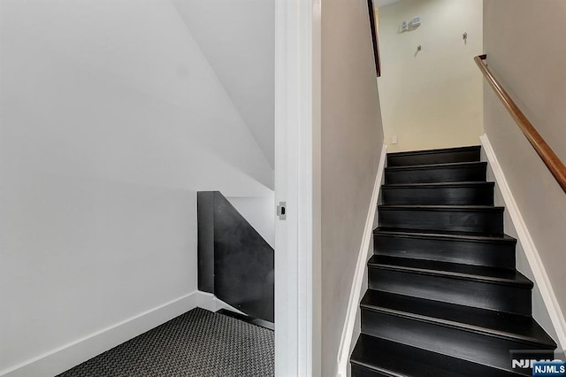
[[[197,193],[198,288],[274,320],[273,249],[218,191]]]

